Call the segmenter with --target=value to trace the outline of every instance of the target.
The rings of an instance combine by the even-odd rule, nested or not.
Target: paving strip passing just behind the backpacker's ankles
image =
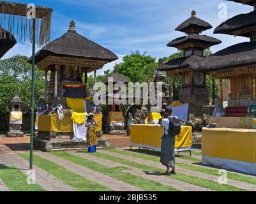
[[[148,166],[155,166],[158,168],[165,169],[165,166],[163,166],[161,163],[156,163],[155,161],[140,159],[137,157],[127,156],[127,155],[123,155],[123,154],[119,154],[119,153],[115,153],[115,152],[109,152],[106,150],[98,150],[98,152],[102,152],[103,154],[109,154],[110,156],[115,156],[115,157],[119,157],[122,159],[127,159],[127,160],[134,161],[137,163],[146,164]],[[206,179],[206,180],[212,180],[214,182],[218,182],[218,177],[215,175],[209,175],[207,173],[202,173],[202,172],[193,171],[193,170],[187,170],[187,169],[179,168],[179,167],[176,167],[176,171],[181,172],[186,175],[193,176],[193,177],[199,177],[200,179]],[[230,186],[241,188],[241,189],[246,189],[248,191],[256,191],[256,185],[248,184],[245,182],[239,182],[237,180],[228,179],[227,184]]]

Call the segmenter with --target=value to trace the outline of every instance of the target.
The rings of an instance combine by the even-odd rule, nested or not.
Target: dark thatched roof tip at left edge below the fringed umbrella
[[[0,58],[3,57],[8,50],[10,50],[17,41],[15,40],[14,36],[11,35],[8,31],[5,31],[4,37],[4,29],[0,28]]]

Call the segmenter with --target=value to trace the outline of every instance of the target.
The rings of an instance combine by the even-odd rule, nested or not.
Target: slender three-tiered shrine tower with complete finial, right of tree
[[[206,88],[206,73],[204,70],[197,69],[195,65],[205,58],[204,49],[218,45],[222,41],[201,35],[200,33],[211,29],[212,26],[195,17],[195,15],[196,12],[193,10],[192,17],[176,28],[176,31],[181,31],[186,36],[170,41],[167,45],[183,50],[184,57],[172,59],[165,63],[160,59],[159,70],[169,72],[174,76],[174,81],[177,75],[183,76],[182,87],[179,91],[179,101],[181,103],[189,103],[189,113],[194,113],[195,117],[201,117],[202,107],[209,105],[209,93]]]

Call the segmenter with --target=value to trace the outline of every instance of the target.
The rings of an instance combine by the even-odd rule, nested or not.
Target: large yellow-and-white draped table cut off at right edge
[[[256,130],[203,128],[202,163],[256,175]]]

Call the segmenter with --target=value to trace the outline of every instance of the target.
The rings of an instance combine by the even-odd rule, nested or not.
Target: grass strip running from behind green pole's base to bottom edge
[[[29,160],[29,154],[19,154]],[[102,186],[92,180],[86,179],[72,171],[66,170],[58,164],[52,163],[47,159],[43,159],[34,155],[34,164],[39,168],[62,180],[65,184],[75,187],[78,191],[112,191],[111,189]]]

